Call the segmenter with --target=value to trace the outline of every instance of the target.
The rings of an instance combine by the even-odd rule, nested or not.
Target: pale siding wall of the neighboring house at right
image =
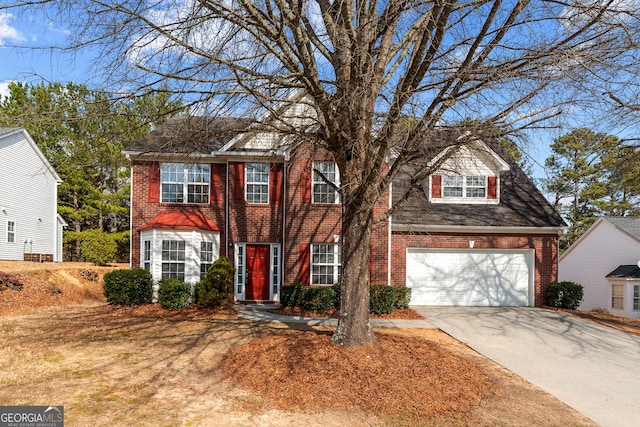
[[[598,220],[586,234],[562,255],[558,280],[584,286],[580,310],[611,307],[611,290],[606,275],[619,265],[640,260],[640,242],[606,220]]]

